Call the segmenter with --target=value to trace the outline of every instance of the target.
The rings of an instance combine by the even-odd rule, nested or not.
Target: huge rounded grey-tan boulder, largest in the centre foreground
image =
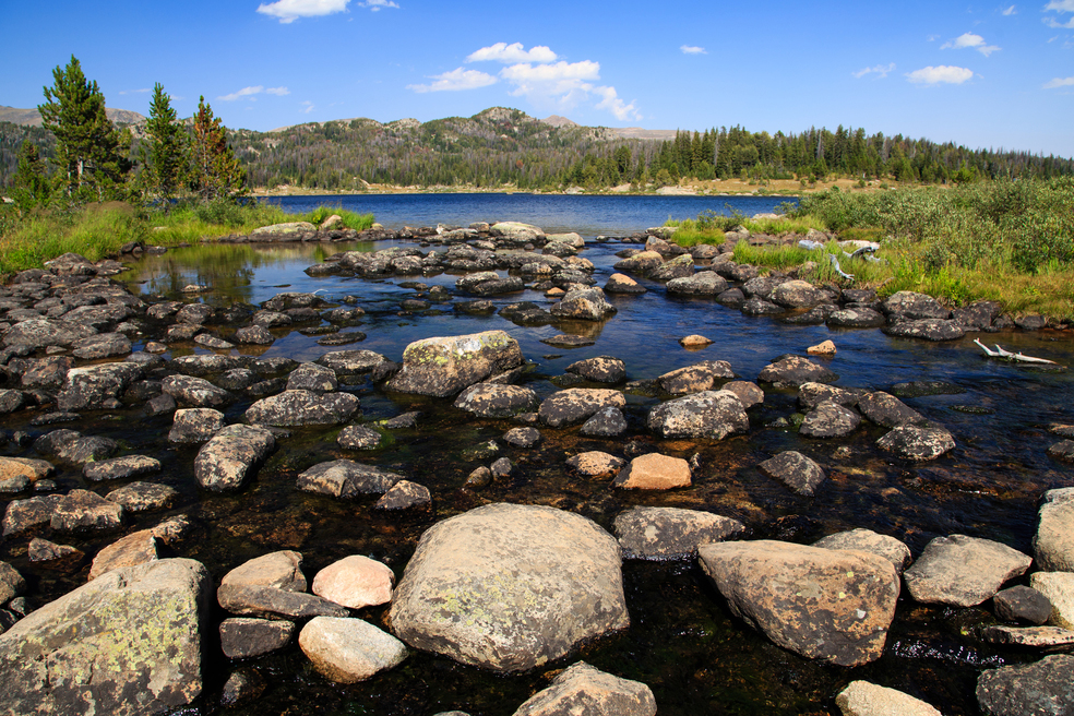
[[[391,622],[415,648],[497,671],[532,669],[630,624],[619,544],[553,508],[472,510],[421,536]]]

